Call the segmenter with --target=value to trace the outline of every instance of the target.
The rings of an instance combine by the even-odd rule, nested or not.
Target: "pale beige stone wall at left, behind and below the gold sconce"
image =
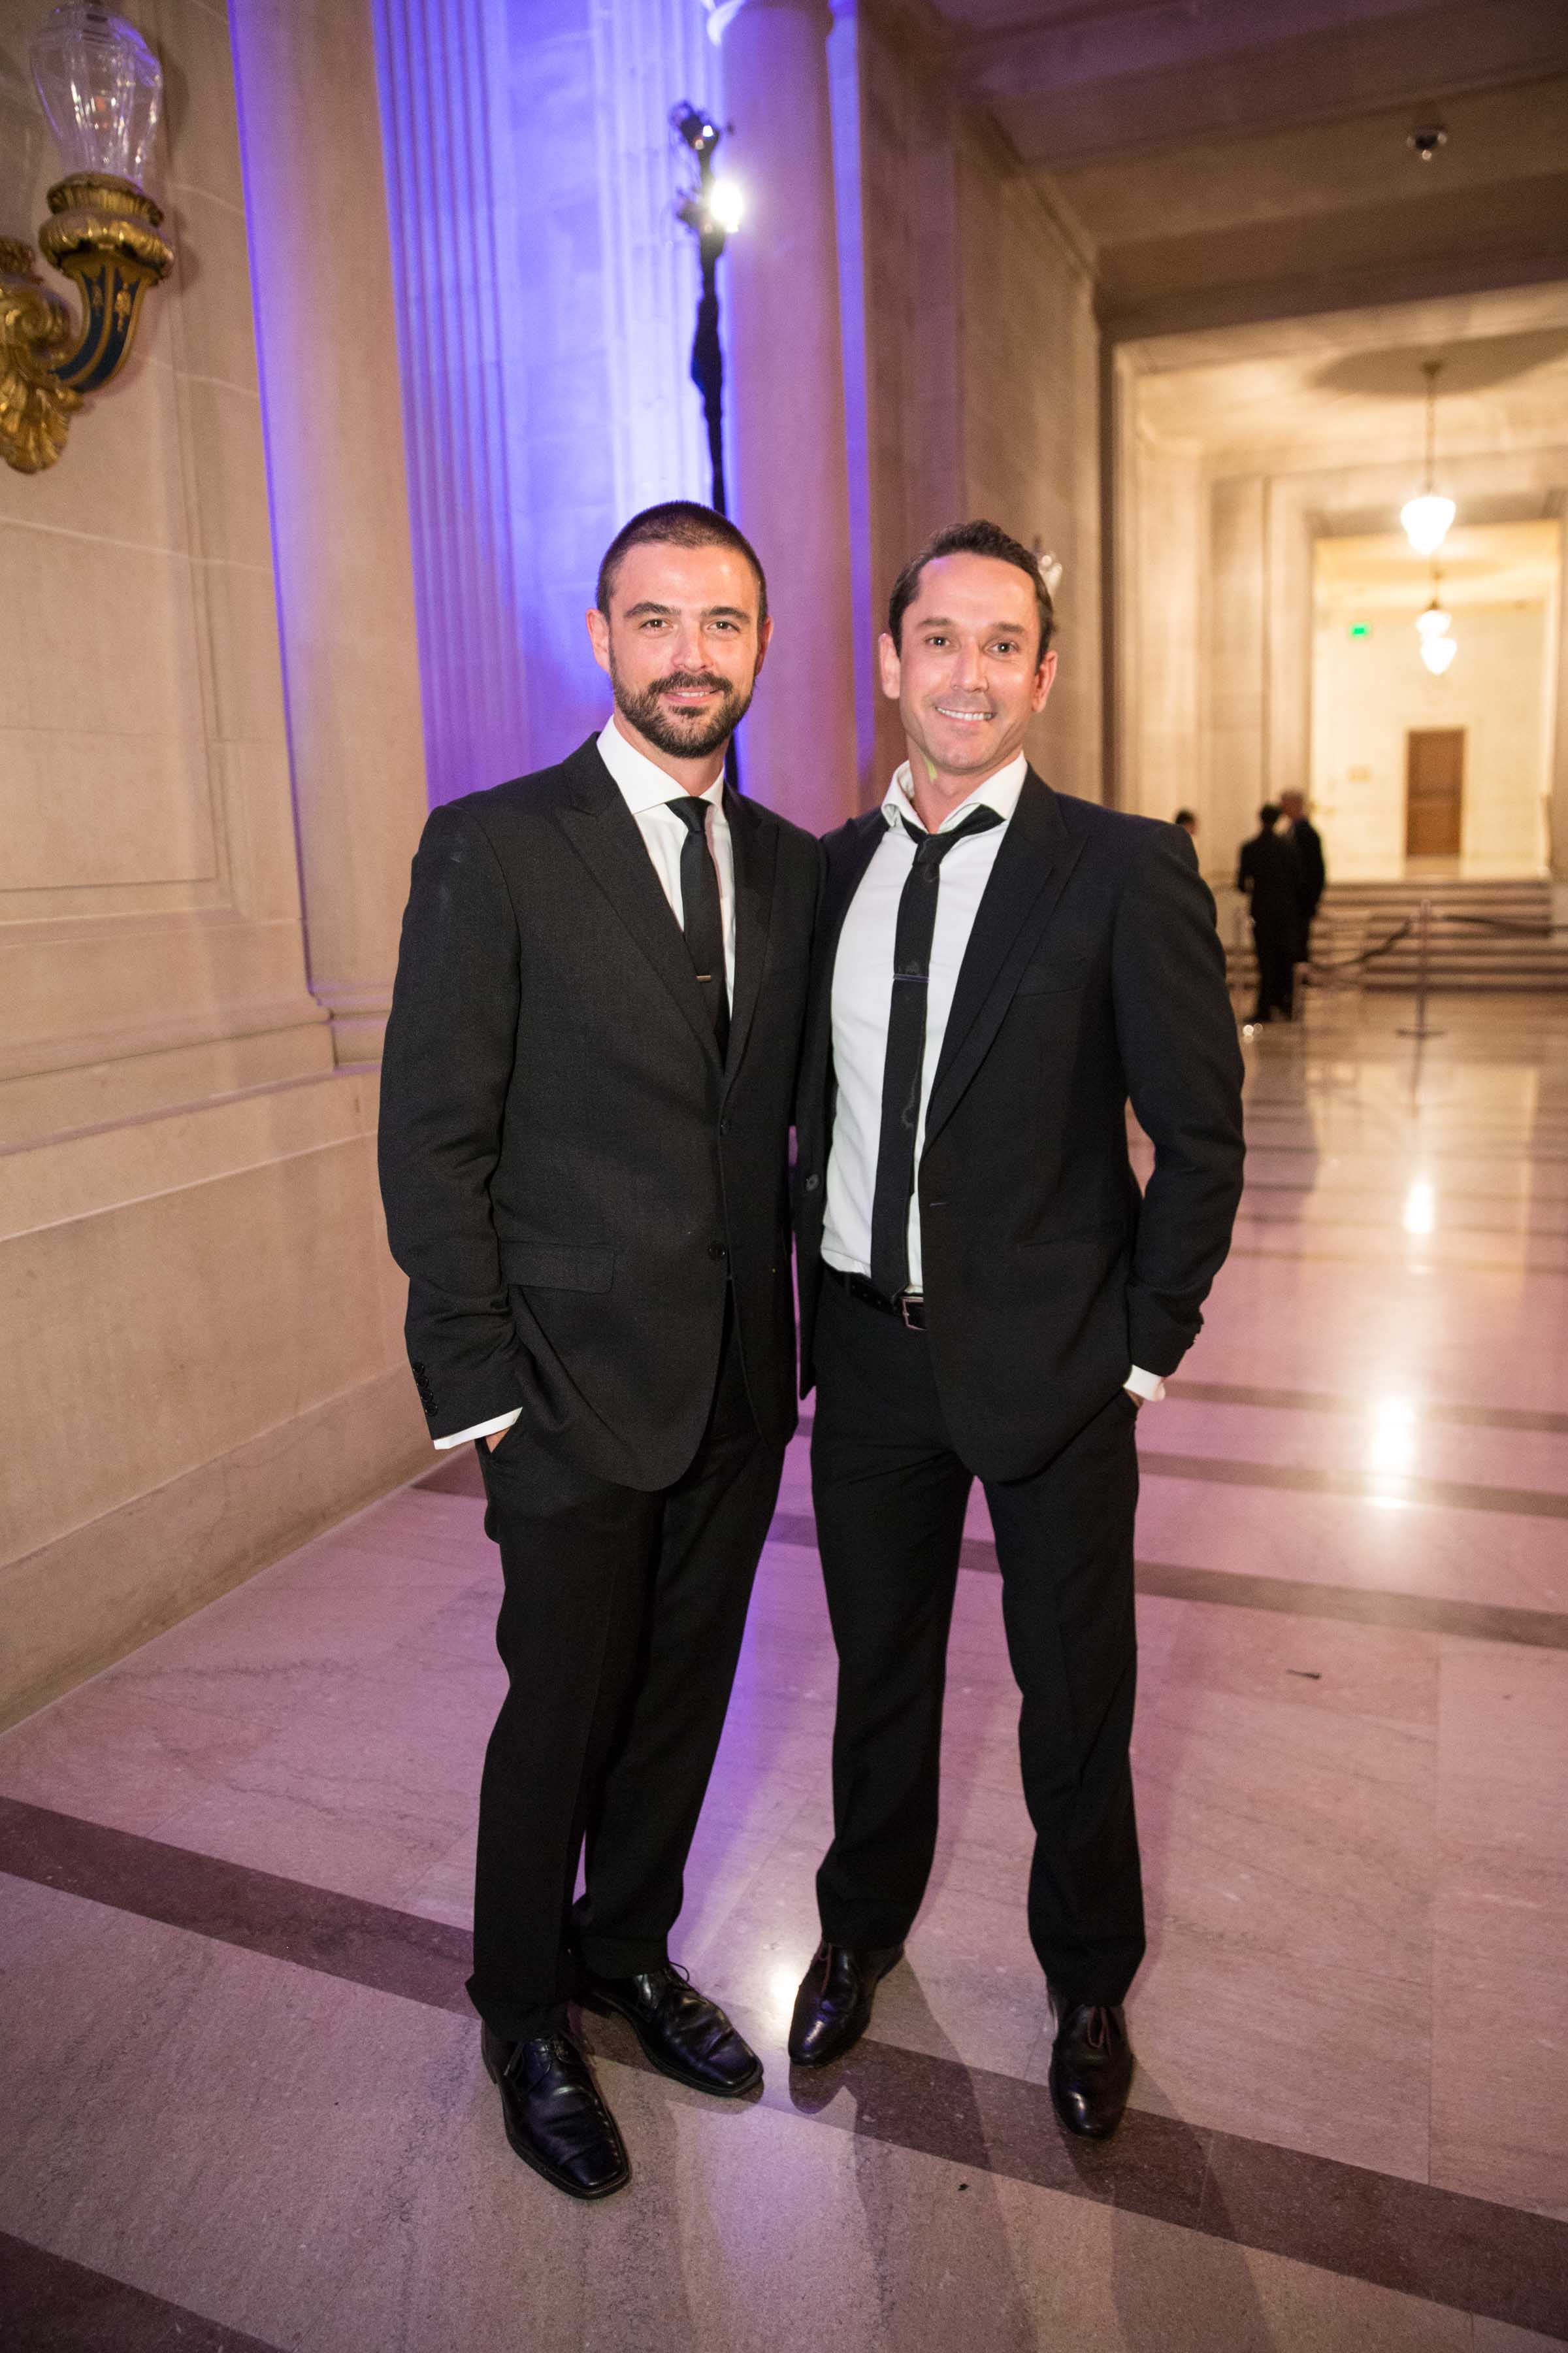
[[[0,0],[12,78],[38,14]],[[428,1459],[374,1071],[339,1066],[308,986],[230,26],[202,0],[136,16],[167,73],[150,179],[176,271],[63,459],[0,468],[0,1722]],[[289,16],[306,71],[320,19]],[[374,92],[367,12],[341,0],[336,33]],[[324,71],[315,89],[329,136]],[[0,228],[33,228],[54,176],[49,146],[28,221]],[[322,268],[331,226],[313,224]],[[383,325],[355,367],[371,414],[393,372],[395,416],[390,301]],[[397,447],[376,482],[381,525]],[[324,499],[320,527],[353,518]],[[324,656],[353,673],[369,633],[411,671],[388,598],[341,612]],[[409,744],[378,760],[369,739],[317,758],[315,788],[355,760],[374,856],[355,866],[350,833],[322,936],[348,936],[357,887],[386,958],[423,772],[414,744],[400,802]]]

